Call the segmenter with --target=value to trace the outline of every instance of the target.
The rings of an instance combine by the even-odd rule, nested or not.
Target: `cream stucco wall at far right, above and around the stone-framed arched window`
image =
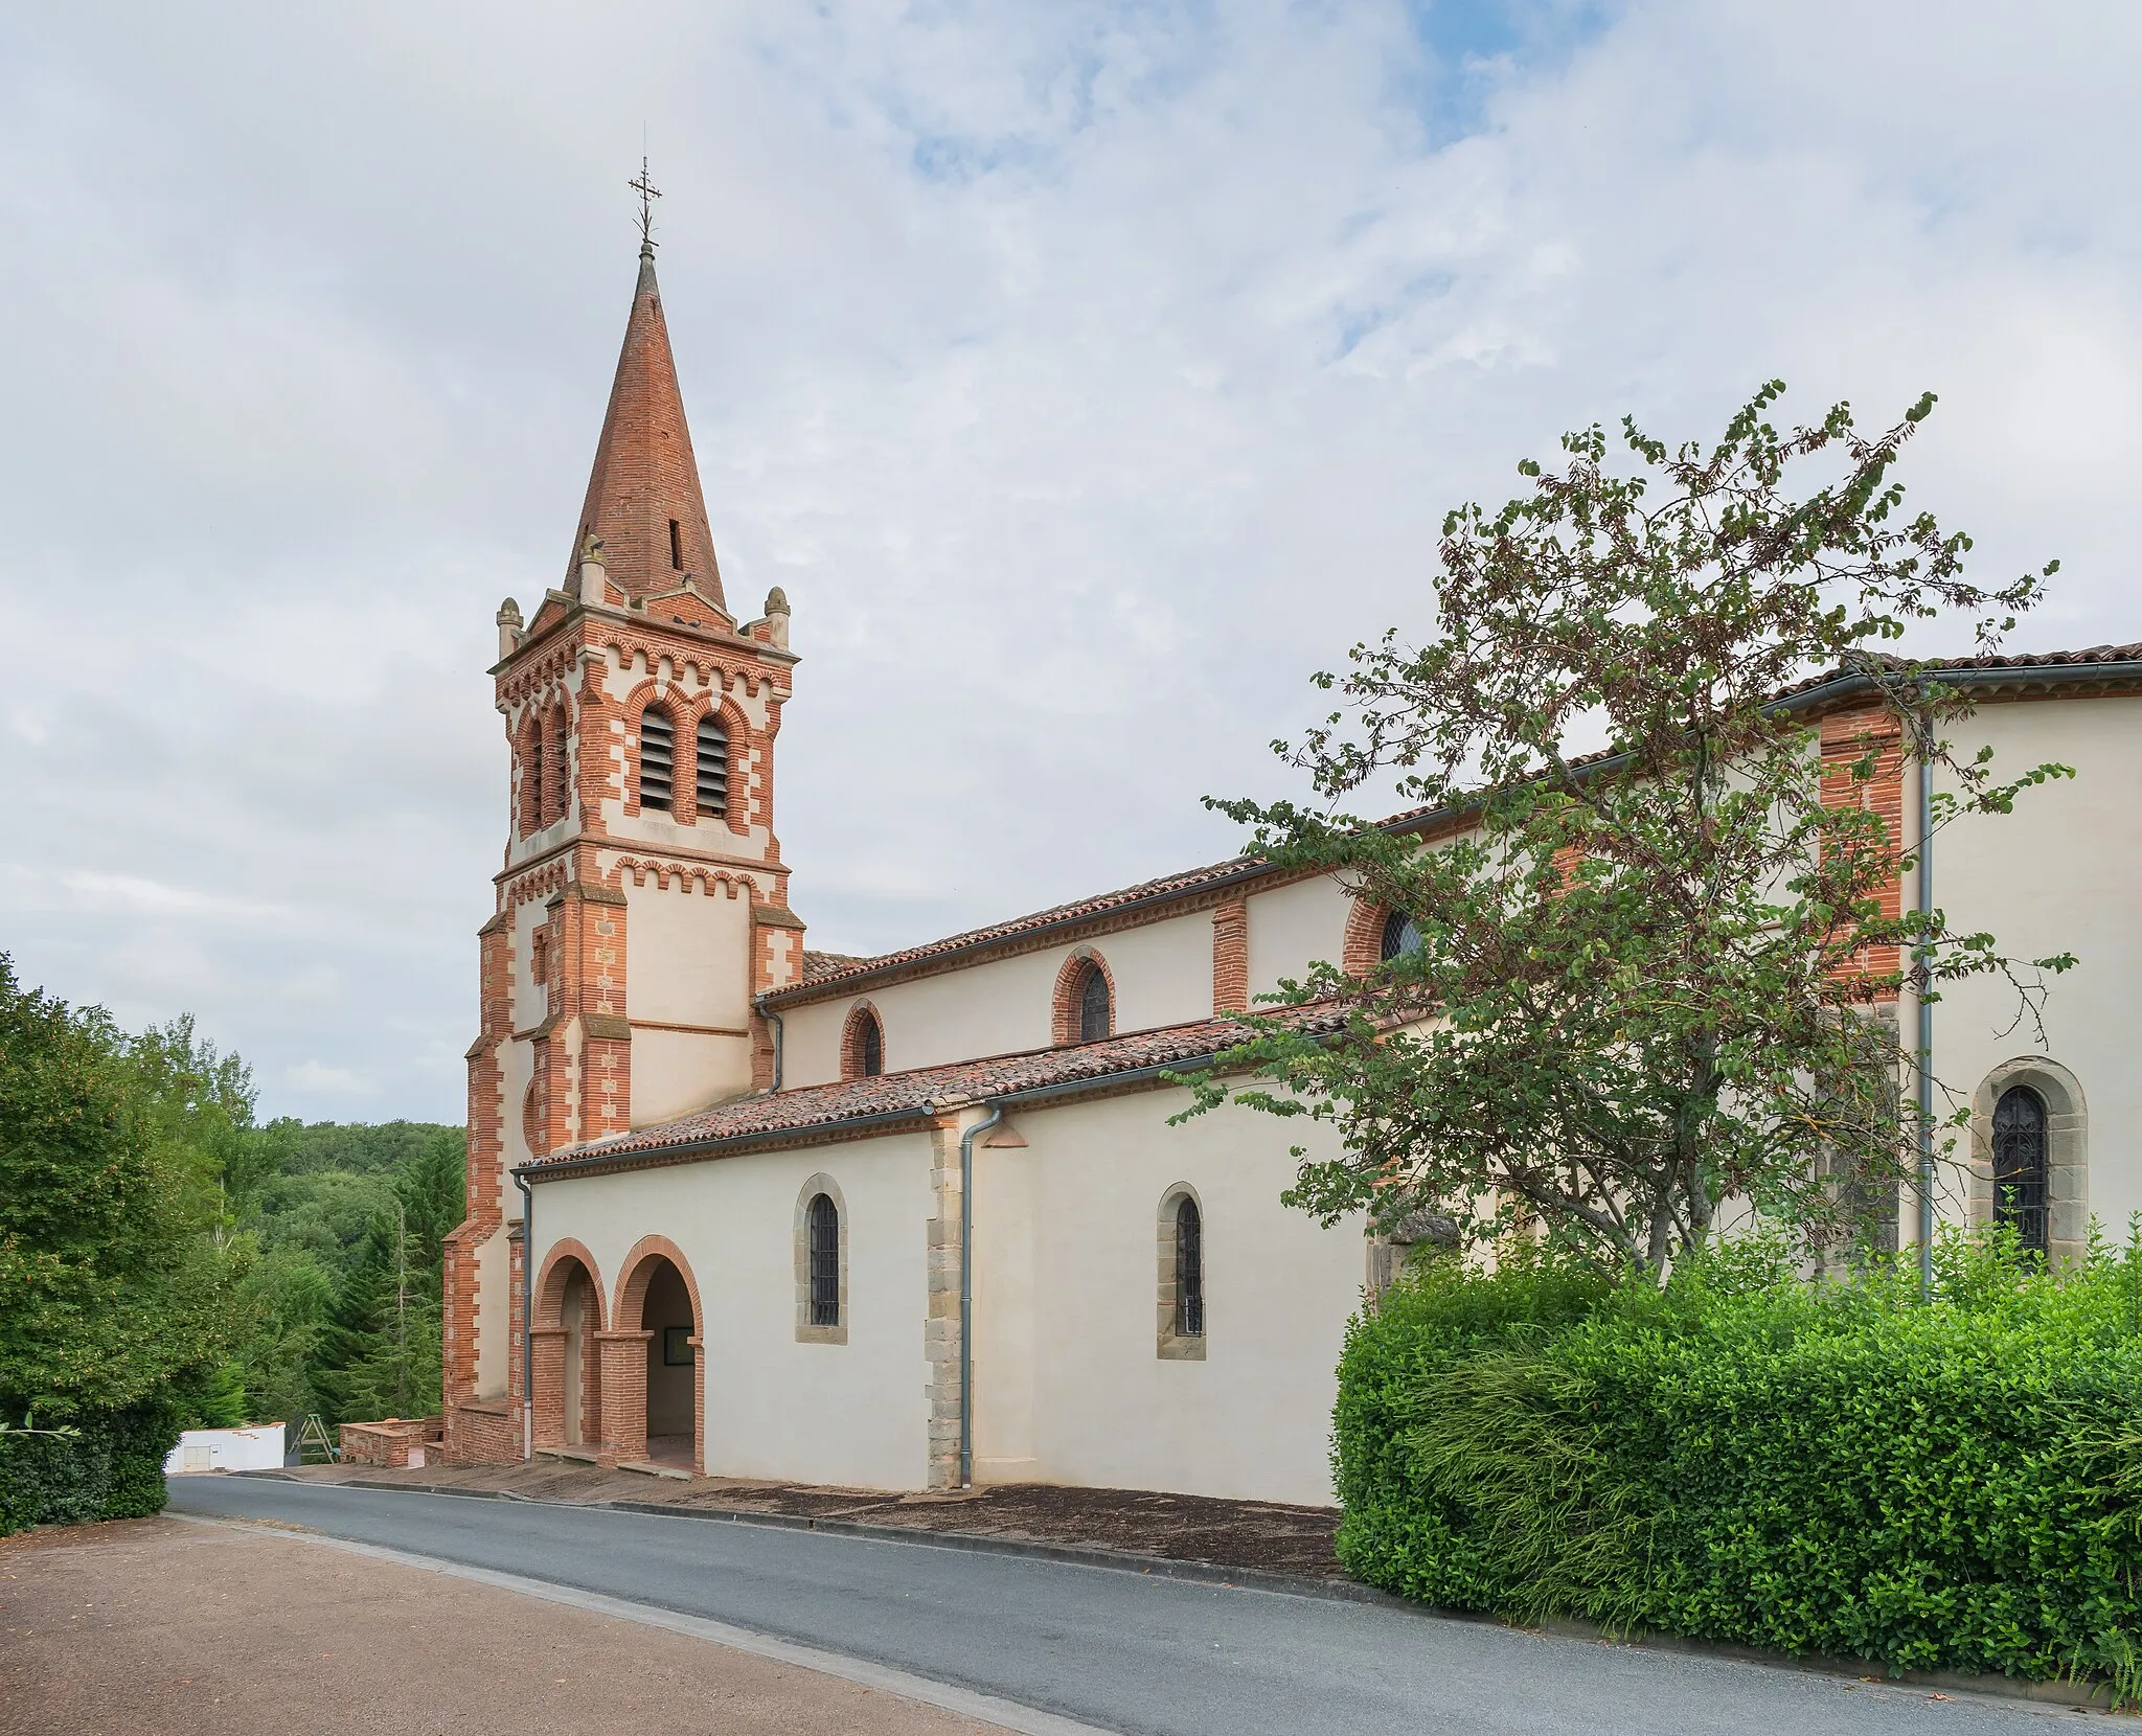
[[[1986,929],[2016,957],[2073,953],[2078,963],[2052,978],[2043,1036],[2028,1019],[2016,1023],[2005,983],[1949,987],[1934,1006],[1934,1075],[1968,1100],[2005,1062],[2046,1055],[2065,1066],[2088,1109],[2088,1209],[2123,1235],[2127,1216],[2142,1209],[2142,1068],[2133,1057],[2142,1027],[2142,698],[1988,704],[1954,736],[1966,749],[1990,743],[2001,777],[2046,760],[2078,775],[2026,790],[2013,813],[1943,831],[1934,903],[1951,927]],[[1947,786],[1936,779],[1936,788]],[[1943,1216],[1954,1220],[1962,1199],[1956,1177],[1945,1179]]]

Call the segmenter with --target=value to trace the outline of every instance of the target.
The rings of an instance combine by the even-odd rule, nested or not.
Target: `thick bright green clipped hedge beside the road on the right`
[[[1347,1571],[1429,1603],[2142,1697],[2138,1244],[1951,1242],[1934,1301],[1429,1269],[1347,1336],[1334,1468]]]

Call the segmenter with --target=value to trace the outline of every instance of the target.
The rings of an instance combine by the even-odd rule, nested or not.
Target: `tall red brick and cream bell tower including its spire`
[[[478,931],[469,1218],[446,1248],[448,1453],[467,1460],[521,1453],[510,1171],[765,1087],[754,998],[803,970],[773,833],[788,599],[728,610],[645,214],[565,572],[497,627],[508,843]]]

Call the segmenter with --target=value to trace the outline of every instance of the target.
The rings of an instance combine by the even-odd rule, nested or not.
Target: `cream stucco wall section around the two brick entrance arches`
[[[799,1344],[795,1331],[797,1199],[820,1171],[848,1207],[846,1344]],[[538,1246],[583,1242],[606,1308],[643,1235],[666,1235],[692,1265],[705,1312],[709,1473],[855,1488],[925,1481],[927,1222],[925,1135],[536,1188]]]

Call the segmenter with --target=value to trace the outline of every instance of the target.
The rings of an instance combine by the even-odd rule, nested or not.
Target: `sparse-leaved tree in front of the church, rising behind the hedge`
[[[1844,405],[1780,435],[1782,390],[1709,447],[1624,422],[1632,473],[1600,428],[1568,435],[1559,469],[1519,467],[1529,494],[1448,514],[1429,640],[1354,646],[1315,679],[1343,709],[1274,743],[1326,805],[1210,803],[1272,863],[1412,916],[1399,957],[1315,965],[1251,1015],[1223,1070],[1272,1083],[1200,1081],[1191,1113],[1232,1094],[1337,1126],[1341,1156],[1304,1162],[1289,1203],[1377,1227],[1429,1209],[1461,1239],[1538,1227],[1654,1280],[1729,1205],[1836,1244],[1855,1201],[1911,1175],[1921,1132],[1883,991],[2005,974],[2035,1010],[2041,974],[2073,963],[1887,914],[1913,863],[1868,803],[1883,741],[1825,760],[1780,702],[1857,674],[1951,786],[1936,828],[2007,811],[2069,771],[2001,781],[1960,753],[1964,696],[1894,646],[1966,614],[1992,651],[2041,580],[1981,591],[1968,537],[1904,514],[1891,469],[1932,396],[1868,439]],[[1337,811],[1390,771],[1461,828],[1424,841],[1418,820]]]

